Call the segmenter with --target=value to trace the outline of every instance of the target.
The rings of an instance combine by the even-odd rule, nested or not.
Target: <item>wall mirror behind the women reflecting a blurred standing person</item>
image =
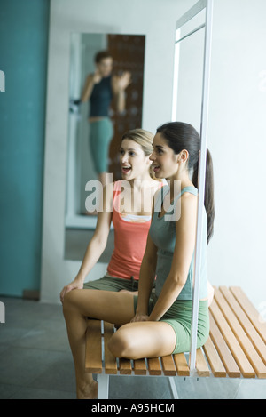
[[[142,126],[144,60],[145,36],[71,35],[67,229],[95,228],[85,206],[90,180],[121,179],[121,135]]]

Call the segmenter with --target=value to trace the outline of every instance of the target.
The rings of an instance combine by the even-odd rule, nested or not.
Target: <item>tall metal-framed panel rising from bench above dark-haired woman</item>
[[[202,261],[201,255],[204,253],[202,237],[204,236],[205,178],[207,172],[207,111],[209,99],[212,10],[213,0],[200,0],[176,23],[176,68],[172,117],[174,120],[177,118],[192,124],[200,133],[200,157],[198,166],[199,197],[192,297],[192,340],[190,350],[190,369],[193,373],[196,371],[200,268]],[[211,182],[213,183],[213,179]],[[212,185],[210,184],[210,181],[208,181],[207,191],[209,192],[211,188]],[[213,190],[211,190],[211,192],[213,193]],[[214,215],[213,210],[214,206],[212,206],[212,216]]]

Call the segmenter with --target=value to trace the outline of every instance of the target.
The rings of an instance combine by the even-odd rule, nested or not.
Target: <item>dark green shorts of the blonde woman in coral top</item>
[[[115,278],[115,277],[102,277],[95,281],[89,281],[84,283],[83,288],[86,290],[106,290],[106,291],[137,291],[138,280],[134,278]]]

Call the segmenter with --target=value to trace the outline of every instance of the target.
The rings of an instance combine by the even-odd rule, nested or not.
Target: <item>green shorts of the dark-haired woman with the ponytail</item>
[[[149,314],[155,305],[156,298],[149,302]],[[137,309],[137,295],[134,295],[134,308]],[[160,321],[166,322],[176,333],[176,347],[172,353],[189,352],[191,349],[192,301],[175,301]],[[208,302],[200,301],[198,318],[197,348],[206,343],[209,335]]]

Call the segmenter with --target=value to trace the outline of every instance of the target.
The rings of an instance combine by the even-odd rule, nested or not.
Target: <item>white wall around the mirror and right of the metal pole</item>
[[[42,300],[59,291],[79,262],[64,261],[69,33],[146,35],[143,127],[170,120],[176,20],[189,0],[51,0],[44,172]],[[104,12],[103,12],[104,11]],[[266,301],[266,70],[264,0],[215,0],[209,140],[215,166],[215,237],[208,248],[214,285],[241,285]],[[122,18],[121,18],[122,17]],[[264,89],[262,88],[264,86]],[[101,276],[98,264],[92,275]]]

